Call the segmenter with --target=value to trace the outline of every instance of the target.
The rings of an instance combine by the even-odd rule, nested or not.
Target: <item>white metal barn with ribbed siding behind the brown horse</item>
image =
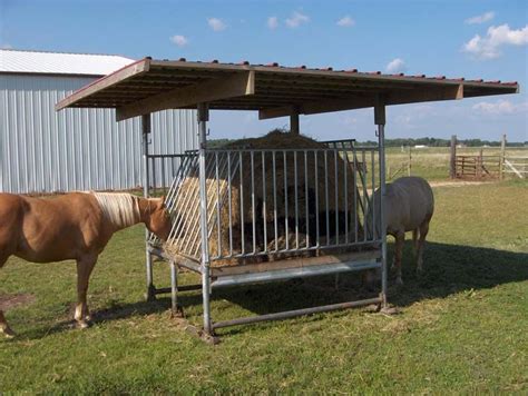
[[[55,103],[134,60],[105,55],[0,50],[0,192],[119,190],[141,186],[140,118]],[[195,110],[153,115],[150,180],[168,184],[175,154],[197,147]]]

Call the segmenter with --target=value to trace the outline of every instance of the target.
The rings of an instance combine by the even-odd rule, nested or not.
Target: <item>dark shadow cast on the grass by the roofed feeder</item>
[[[390,244],[389,247],[390,263],[393,245]],[[212,296],[213,316],[216,320],[231,319],[224,317],[228,313],[215,311],[215,300],[227,300],[252,313],[250,315],[265,315],[374,297],[377,293],[362,288],[361,278],[360,273],[341,274],[338,290],[334,288],[333,276],[215,290]],[[437,242],[427,244],[424,273],[417,275],[411,245],[407,242],[403,253],[404,285],[395,287],[390,276],[389,301],[398,307],[405,307],[422,299],[443,298],[463,290],[492,288],[522,280],[528,280],[528,254]],[[182,293],[178,303],[184,310],[201,306],[202,295],[199,291]],[[117,304],[92,313],[94,323],[166,311],[169,307],[170,299],[166,296],[151,303]],[[197,320],[202,323],[199,318]],[[60,323],[51,329],[26,336],[40,338],[70,328],[68,324]]]

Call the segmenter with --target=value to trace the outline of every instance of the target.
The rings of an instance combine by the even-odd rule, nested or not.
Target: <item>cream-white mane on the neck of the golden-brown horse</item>
[[[126,228],[140,219],[138,198],[130,194],[91,192],[101,208],[102,216],[114,226]]]

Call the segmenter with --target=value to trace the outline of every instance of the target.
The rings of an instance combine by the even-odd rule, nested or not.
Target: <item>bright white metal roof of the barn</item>
[[[131,62],[114,55],[0,49],[0,72],[106,76]]]

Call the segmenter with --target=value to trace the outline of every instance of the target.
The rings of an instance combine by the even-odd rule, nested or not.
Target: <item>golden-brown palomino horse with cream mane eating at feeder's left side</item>
[[[0,268],[11,255],[33,263],[77,260],[75,319],[84,328],[90,320],[86,293],[98,256],[114,232],[138,222],[166,240],[170,217],[164,199],[105,192],[52,199],[0,194]],[[13,335],[1,310],[0,333]]]

